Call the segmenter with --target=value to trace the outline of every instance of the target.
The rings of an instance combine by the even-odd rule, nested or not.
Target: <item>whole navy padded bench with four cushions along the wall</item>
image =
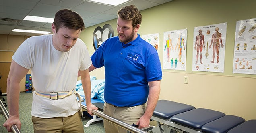
[[[168,100],[157,102],[151,119],[159,123],[161,133],[164,129],[191,133],[256,133],[256,120],[245,121],[242,117]]]

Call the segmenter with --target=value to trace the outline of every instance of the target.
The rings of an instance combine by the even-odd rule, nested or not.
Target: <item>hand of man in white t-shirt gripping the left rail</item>
[[[6,127],[8,132],[11,132],[12,125],[17,125],[18,129],[21,129],[21,121],[18,116],[12,116],[10,115],[9,118],[6,120],[6,122],[3,124],[4,127]]]

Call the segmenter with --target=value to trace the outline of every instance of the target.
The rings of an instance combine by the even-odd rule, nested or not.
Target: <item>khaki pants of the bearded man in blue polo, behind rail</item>
[[[109,105],[107,103],[104,104],[104,114],[130,125],[137,123],[140,117],[144,114],[145,109],[146,104],[134,107],[114,107],[113,105]],[[103,121],[106,133],[127,133],[126,129],[105,119]]]

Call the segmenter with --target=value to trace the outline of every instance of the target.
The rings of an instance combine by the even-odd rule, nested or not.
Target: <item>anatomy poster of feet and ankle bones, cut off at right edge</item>
[[[256,18],[236,22],[233,73],[256,74]]]

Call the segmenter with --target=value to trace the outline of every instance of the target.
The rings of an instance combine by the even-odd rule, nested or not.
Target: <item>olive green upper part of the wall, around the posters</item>
[[[174,0],[147,10],[142,10],[139,34],[159,33],[159,58],[163,61],[163,32],[188,29],[186,71],[164,70],[178,73],[256,77],[256,75],[233,74],[233,52],[236,21],[256,18],[256,0]],[[224,73],[192,71],[194,27],[227,22]],[[97,26],[110,24],[116,32],[116,19],[86,28],[81,38],[92,54],[92,34]],[[92,49],[91,49],[92,47]],[[93,51],[91,51],[93,50]]]

